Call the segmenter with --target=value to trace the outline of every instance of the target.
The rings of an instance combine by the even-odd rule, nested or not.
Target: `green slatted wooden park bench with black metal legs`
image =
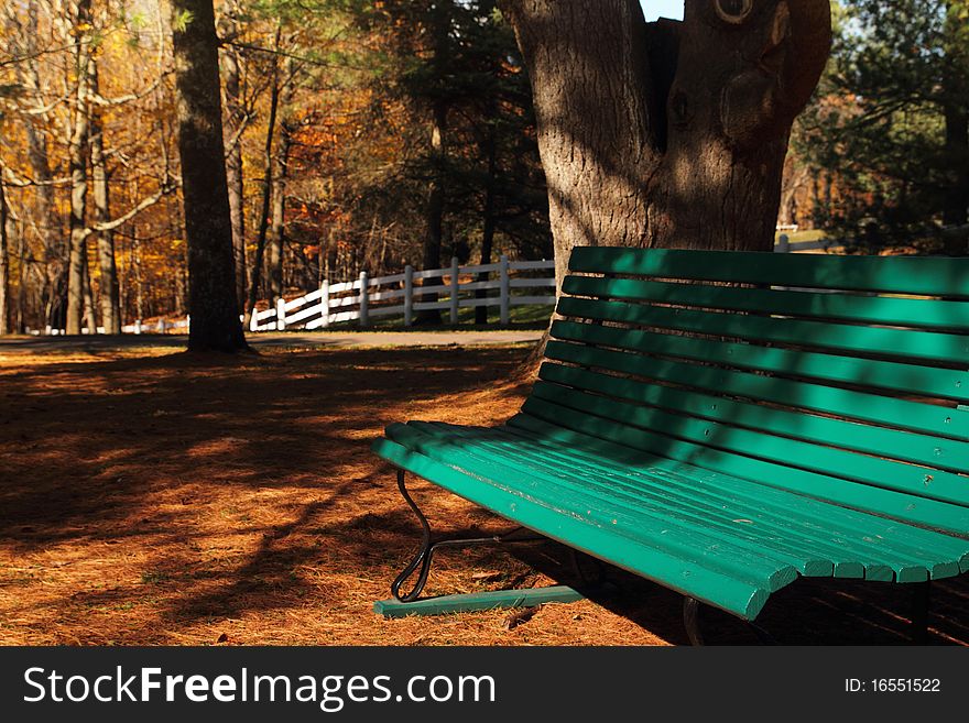
[[[969,260],[576,249],[521,413],[393,424],[404,471],[753,623],[798,577],[969,569]],[[473,541],[473,540],[472,540]],[[420,568],[416,585],[401,585]],[[521,591],[519,591],[521,592]],[[418,603],[409,603],[418,604]]]

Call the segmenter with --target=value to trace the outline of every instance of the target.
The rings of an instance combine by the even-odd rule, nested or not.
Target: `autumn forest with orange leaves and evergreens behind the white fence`
[[[551,256],[529,80],[493,1],[216,0],[216,13],[240,308],[361,270]],[[838,8],[781,223],[874,245],[965,226],[966,13],[965,0]],[[170,37],[192,20],[164,0],[4,3],[0,332],[185,313]]]

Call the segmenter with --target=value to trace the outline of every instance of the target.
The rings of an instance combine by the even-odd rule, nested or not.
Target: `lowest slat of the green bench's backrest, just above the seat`
[[[832,479],[825,474],[725,452],[692,441],[675,440],[661,434],[595,418],[590,415],[579,415],[574,409],[543,399],[530,398],[522,408],[527,416],[537,417],[545,423],[557,424],[581,435],[597,437],[633,449],[642,449],[669,459],[687,461],[697,467],[826,500],[832,504],[957,535],[967,535],[967,530],[969,530],[969,510],[960,505],[914,497],[893,490],[846,483],[845,480]],[[526,425],[527,419],[513,417],[509,424],[512,426]]]

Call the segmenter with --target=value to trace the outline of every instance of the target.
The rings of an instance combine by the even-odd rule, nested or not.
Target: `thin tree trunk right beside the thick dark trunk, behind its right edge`
[[[238,2],[227,0],[224,6],[222,35],[238,32]],[[226,113],[230,143],[226,152],[226,174],[229,183],[229,215],[232,219],[232,255],[236,263],[236,296],[239,308],[246,304],[246,204],[244,172],[242,167],[242,131],[246,127],[246,109],[242,103],[242,73],[239,52],[232,45],[224,45],[222,89],[226,95]]]

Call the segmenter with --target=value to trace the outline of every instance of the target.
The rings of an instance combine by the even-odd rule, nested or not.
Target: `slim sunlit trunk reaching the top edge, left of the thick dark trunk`
[[[79,0],[75,19],[74,89],[68,166],[70,168],[70,251],[67,261],[67,333],[80,333],[84,316],[85,245],[87,240],[87,155],[90,90],[90,0]]]

